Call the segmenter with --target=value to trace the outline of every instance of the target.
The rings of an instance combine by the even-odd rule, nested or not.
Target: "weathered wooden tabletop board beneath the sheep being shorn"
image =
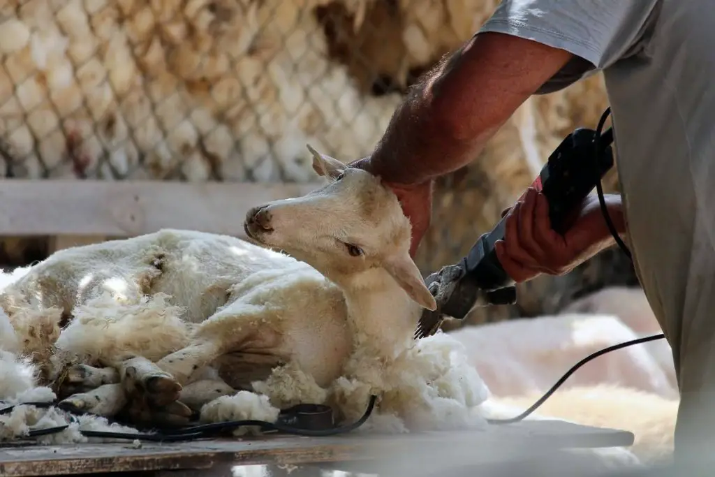
[[[633,434],[563,421],[525,421],[480,431],[405,435],[350,434],[325,438],[262,436],[187,443],[81,444],[0,448],[0,476],[210,469],[214,466],[300,464],[405,458],[460,452],[480,462],[546,449],[630,446]],[[402,456],[402,457],[400,457]],[[411,457],[408,457],[411,456]]]

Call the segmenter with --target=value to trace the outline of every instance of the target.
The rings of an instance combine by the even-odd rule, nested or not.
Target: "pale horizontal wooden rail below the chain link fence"
[[[182,228],[243,237],[251,207],[321,185],[1,180],[0,235],[132,237]]]

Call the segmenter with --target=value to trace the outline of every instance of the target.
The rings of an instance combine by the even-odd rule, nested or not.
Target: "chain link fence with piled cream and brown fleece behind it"
[[[496,4],[6,1],[0,176],[312,182],[306,143],[346,162],[369,154],[410,84]],[[473,164],[440,180],[417,257],[423,272],[464,255],[563,136],[595,127],[605,106],[600,77],[534,97]],[[608,188],[616,187],[611,177]],[[23,262],[37,240],[1,245]],[[569,277],[521,287],[518,307],[472,320],[552,313],[582,290],[634,282],[629,264],[605,254]]]

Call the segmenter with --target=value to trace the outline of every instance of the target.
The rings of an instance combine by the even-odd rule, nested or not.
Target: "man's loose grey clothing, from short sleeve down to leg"
[[[715,390],[714,1],[505,0],[480,31],[586,60],[542,93],[603,71],[636,270],[681,390]]]

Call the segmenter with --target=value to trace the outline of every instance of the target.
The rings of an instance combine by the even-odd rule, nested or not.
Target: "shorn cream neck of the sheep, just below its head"
[[[420,307],[388,272],[363,272],[343,292],[355,345],[391,358],[413,343]]]

